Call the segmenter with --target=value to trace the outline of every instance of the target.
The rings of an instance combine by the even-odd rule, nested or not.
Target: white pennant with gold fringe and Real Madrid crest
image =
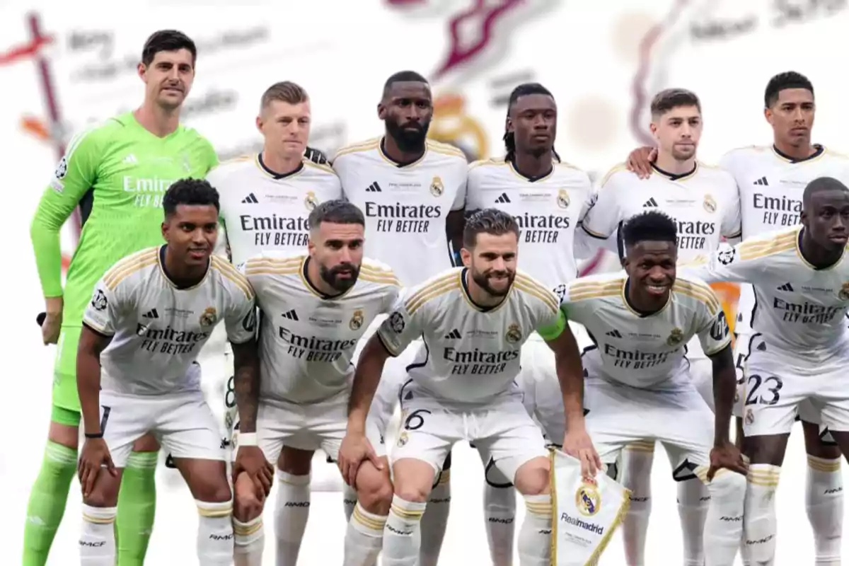
[[[551,566],[594,566],[625,518],[631,492],[599,471],[551,450]]]

